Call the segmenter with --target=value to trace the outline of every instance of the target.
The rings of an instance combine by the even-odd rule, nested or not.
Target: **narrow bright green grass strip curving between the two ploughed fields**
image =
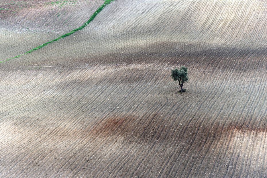
[[[48,42],[46,42],[46,43],[43,43],[43,44],[41,44],[41,45],[39,45],[39,46],[37,46],[37,47],[35,47],[35,48],[32,48],[31,50],[25,52],[24,54],[28,54],[28,53],[31,53],[31,52],[33,52],[33,51],[36,51],[36,50],[38,50],[38,49],[40,49],[40,48],[43,48],[44,46],[46,46],[46,45],[48,45],[48,44],[50,44],[50,43],[53,43],[54,41],[58,41],[58,40],[61,39],[61,38],[67,37],[67,36],[71,35],[72,33],[75,33],[76,31],[79,31],[79,30],[83,29],[84,27],[86,27],[86,26],[87,26],[87,25],[88,25],[88,24],[95,18],[95,16],[97,16],[97,14],[98,14],[100,11],[102,11],[102,10],[104,9],[105,5],[108,5],[108,4],[111,3],[112,1],[114,1],[114,0],[105,0],[105,2],[104,2],[101,6],[99,6],[99,7],[97,8],[97,10],[91,15],[91,17],[89,18],[89,20],[87,20],[85,23],[83,23],[83,25],[81,25],[80,27],[75,28],[75,29],[71,30],[70,32],[68,32],[68,33],[66,33],[66,34],[64,34],[64,35],[61,35],[61,36],[59,36],[59,37],[57,37],[57,38],[55,38],[55,39],[52,39],[51,41],[48,41]],[[8,58],[7,60],[0,61],[0,63],[9,61],[9,60],[11,60],[11,59],[18,58],[18,57],[20,57],[20,56],[22,56],[22,55],[24,55],[24,54],[17,55],[17,56],[15,56],[15,57],[13,57],[13,58]]]

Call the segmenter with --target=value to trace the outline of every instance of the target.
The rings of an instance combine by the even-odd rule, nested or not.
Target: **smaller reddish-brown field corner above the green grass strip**
[[[79,27],[103,1],[3,0],[0,2],[0,61]]]

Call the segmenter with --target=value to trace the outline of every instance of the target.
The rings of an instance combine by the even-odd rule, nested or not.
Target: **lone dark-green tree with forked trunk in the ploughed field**
[[[188,81],[187,68],[185,66],[181,66],[179,67],[179,69],[172,69],[172,74],[170,76],[172,77],[174,82],[176,82],[177,80],[179,81],[179,85],[181,87],[181,90],[179,90],[179,92],[184,92],[184,82]]]

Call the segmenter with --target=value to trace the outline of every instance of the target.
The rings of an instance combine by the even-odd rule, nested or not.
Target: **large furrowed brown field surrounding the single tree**
[[[267,177],[266,13],[115,0],[1,63],[0,176]],[[170,78],[180,65],[185,93]]]

